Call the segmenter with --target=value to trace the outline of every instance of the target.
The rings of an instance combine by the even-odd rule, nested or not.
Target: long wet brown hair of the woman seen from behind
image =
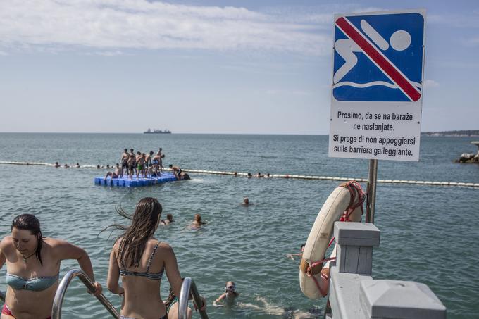
[[[163,208],[157,199],[145,197],[140,199],[135,213],[131,217],[132,224],[125,227],[125,233],[118,238],[120,242],[120,261],[127,267],[138,267],[148,239],[153,236]],[[125,217],[129,215],[122,208],[116,211]]]

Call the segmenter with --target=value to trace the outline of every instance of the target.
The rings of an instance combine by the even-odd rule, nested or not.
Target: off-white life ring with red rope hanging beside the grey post
[[[316,216],[299,265],[299,286],[309,299],[328,294],[330,262],[336,257],[336,246],[329,258],[325,253],[332,243],[335,221],[361,221],[365,198],[358,182],[344,182],[330,194]]]

